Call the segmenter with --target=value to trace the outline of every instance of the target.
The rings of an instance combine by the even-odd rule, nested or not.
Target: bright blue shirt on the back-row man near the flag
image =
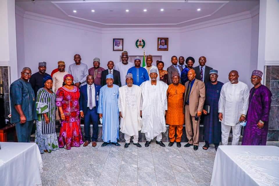
[[[140,86],[144,81],[149,80],[149,75],[147,73],[147,70],[143,67],[136,68],[131,67],[128,69],[127,74],[132,73],[133,74],[133,84]]]

